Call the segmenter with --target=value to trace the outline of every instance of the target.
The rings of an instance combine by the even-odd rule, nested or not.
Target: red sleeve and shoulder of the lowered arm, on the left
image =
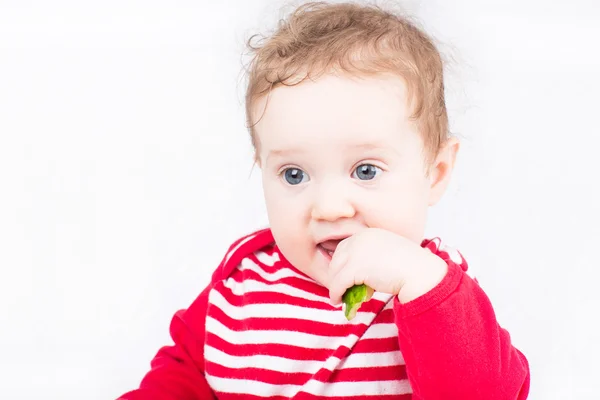
[[[216,282],[227,278],[248,254],[273,241],[269,229],[234,242],[214,271],[212,282],[187,310],[171,321],[173,345],[162,347],[138,389],[117,400],[211,400],[216,399],[204,377],[204,337],[208,296]]]

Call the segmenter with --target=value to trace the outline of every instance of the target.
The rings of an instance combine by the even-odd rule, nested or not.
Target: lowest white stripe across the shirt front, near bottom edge
[[[304,386],[272,385],[246,379],[228,379],[207,376],[211,387],[216,392],[238,393],[254,396],[284,396],[293,397],[300,390],[323,397],[353,397],[376,395],[400,395],[412,393],[408,380],[376,381],[376,382],[335,382],[323,383],[310,380]]]

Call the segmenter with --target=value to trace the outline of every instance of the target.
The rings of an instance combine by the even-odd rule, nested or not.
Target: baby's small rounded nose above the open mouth
[[[313,220],[333,222],[341,218],[352,218],[355,214],[347,188],[336,185],[320,185],[317,188],[311,211]]]

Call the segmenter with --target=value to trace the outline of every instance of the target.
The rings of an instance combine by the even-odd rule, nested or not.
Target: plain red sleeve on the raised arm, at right
[[[450,258],[442,258],[448,273],[438,286],[406,304],[394,300],[414,398],[526,399],[527,359],[498,325],[477,282]]]

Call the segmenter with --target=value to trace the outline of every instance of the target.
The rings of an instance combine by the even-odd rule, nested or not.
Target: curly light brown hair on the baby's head
[[[253,107],[280,85],[341,71],[351,76],[394,74],[407,85],[411,119],[431,160],[448,137],[443,62],[433,40],[398,12],[376,5],[310,2],[282,19],[259,43],[251,36],[247,69],[246,122],[255,160],[258,140]],[[268,103],[268,102],[267,102]],[[263,110],[264,112],[264,110]]]

